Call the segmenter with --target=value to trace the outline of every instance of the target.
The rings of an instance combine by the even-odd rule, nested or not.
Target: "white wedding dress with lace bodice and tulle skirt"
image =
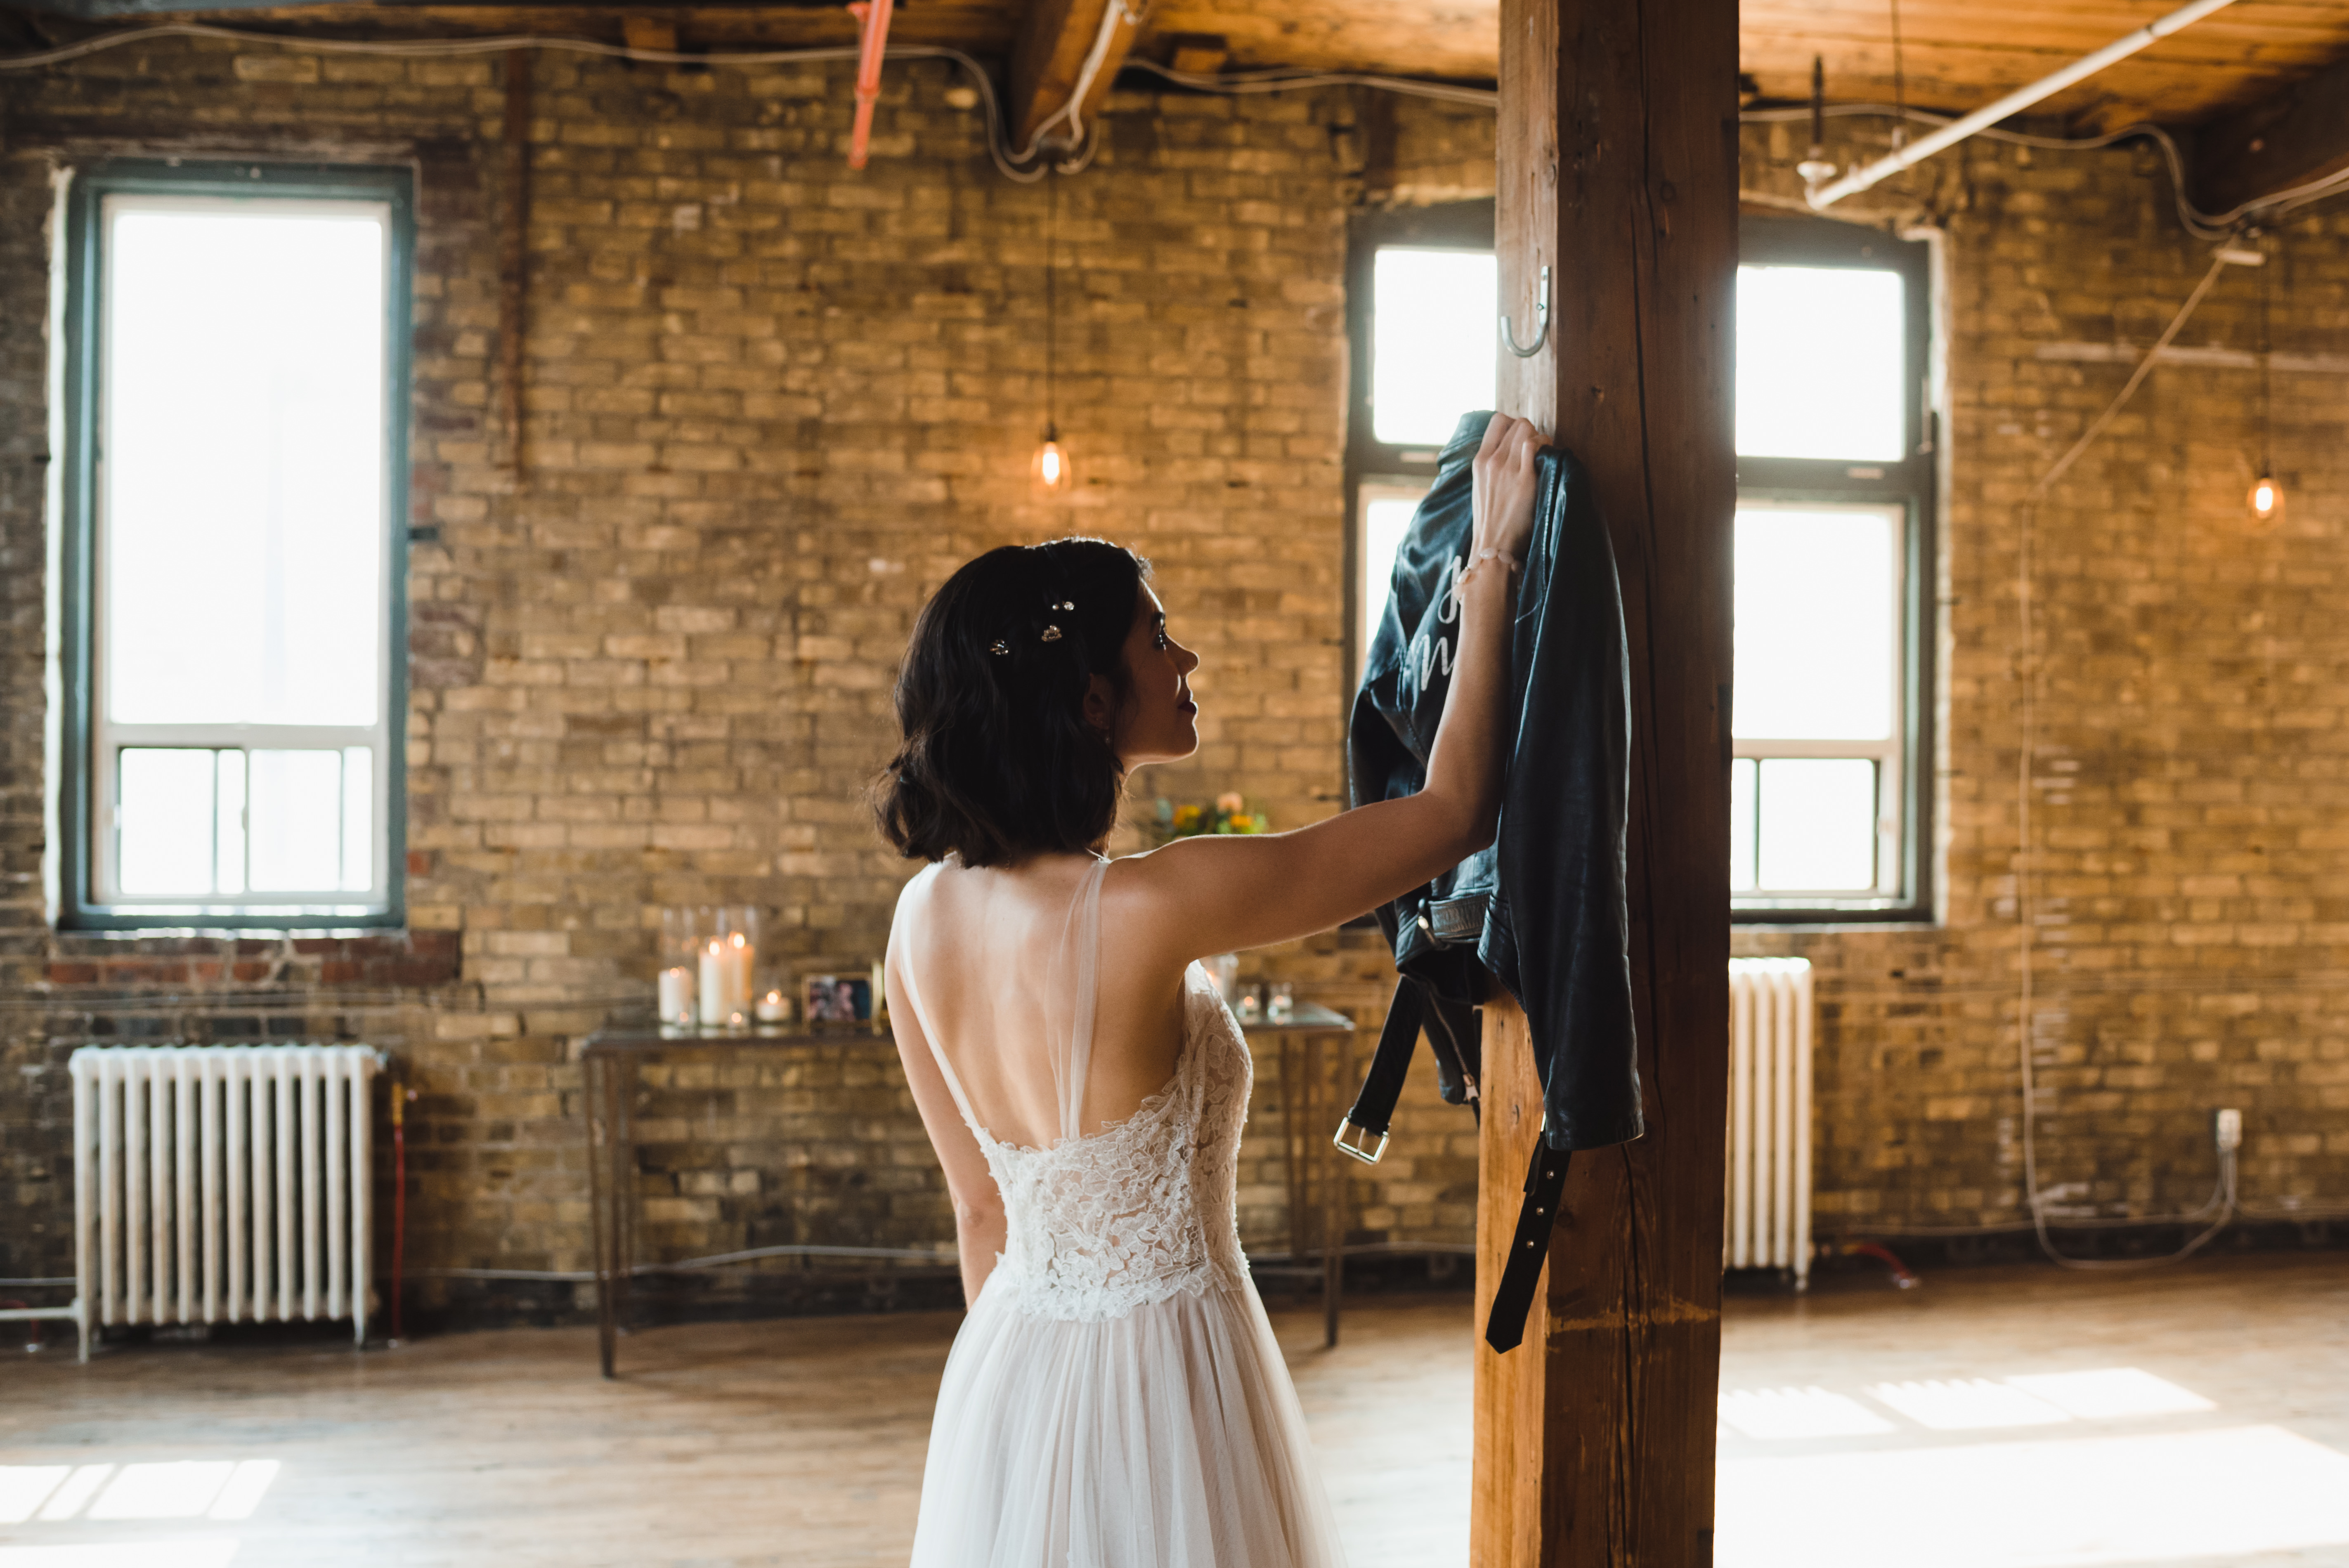
[[[1240,1253],[1250,1059],[1205,969],[1184,976],[1167,1087],[1078,1127],[1106,869],[1085,873],[1059,960],[1038,965],[1038,984],[1071,984],[1064,1040],[1048,1042],[1050,1148],[980,1127],[921,976],[897,969],[1008,1221],[937,1390],[914,1568],[1337,1568],[1297,1390]],[[923,920],[940,871],[907,885],[900,927]]]

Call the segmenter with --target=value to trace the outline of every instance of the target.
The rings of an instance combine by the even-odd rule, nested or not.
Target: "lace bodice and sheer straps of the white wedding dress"
[[[1085,948],[1097,948],[1090,911],[1099,901],[1102,869],[1106,861],[1078,894],[1085,918],[1071,915]],[[1090,958],[1088,951],[1078,962],[1078,984],[1088,991],[1069,1042],[1066,1106],[1083,1103],[1092,1045]],[[921,1012],[918,984],[907,981]],[[921,1028],[937,1052],[940,1035],[928,1016]],[[1184,1042],[1167,1087],[1125,1120],[1071,1131],[1052,1148],[994,1138],[972,1117],[944,1052],[937,1063],[1003,1195],[1005,1244],[989,1289],[1012,1291],[1022,1312],[1104,1322],[1247,1275],[1236,1185],[1252,1066],[1240,1026],[1203,967],[1191,965],[1184,974]],[[1066,1115],[1073,1129],[1073,1110]]]

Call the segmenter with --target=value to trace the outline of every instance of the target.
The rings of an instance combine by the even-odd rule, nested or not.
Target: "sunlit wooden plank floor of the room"
[[[1353,1566],[1461,1568],[1466,1300],[1276,1324]],[[23,1357],[0,1568],[902,1563],[951,1336],[660,1329],[620,1383],[585,1331]],[[2349,1568],[2342,1256],[1736,1296],[1722,1390],[1724,1568]]]

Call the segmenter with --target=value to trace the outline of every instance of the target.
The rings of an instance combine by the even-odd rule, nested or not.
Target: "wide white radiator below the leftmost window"
[[[366,1045],[85,1045],[75,1303],[94,1324],[343,1319],[373,1284]]]

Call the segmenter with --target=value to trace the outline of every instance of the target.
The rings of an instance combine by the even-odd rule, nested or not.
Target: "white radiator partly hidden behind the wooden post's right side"
[[[1729,960],[1724,1268],[1811,1282],[1811,960]]]

